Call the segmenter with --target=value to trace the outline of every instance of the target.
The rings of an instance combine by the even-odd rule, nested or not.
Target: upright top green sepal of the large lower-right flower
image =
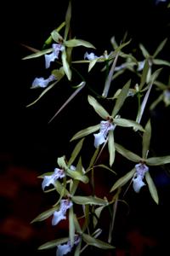
[[[147,154],[150,148],[150,137],[151,137],[151,125],[150,119],[144,127],[144,134],[142,139],[142,158],[147,158]]]

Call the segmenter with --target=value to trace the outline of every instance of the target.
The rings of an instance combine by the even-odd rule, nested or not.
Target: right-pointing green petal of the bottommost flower
[[[101,249],[114,249],[115,247],[111,246],[111,244],[101,241],[93,236],[89,236],[88,234],[82,234],[82,240],[85,241],[88,245],[99,247]]]

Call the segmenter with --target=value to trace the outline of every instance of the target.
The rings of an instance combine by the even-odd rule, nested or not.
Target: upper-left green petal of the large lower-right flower
[[[138,163],[140,160],[142,160],[142,158],[138,154],[134,154],[133,152],[122,147],[122,145],[120,145],[120,144],[115,143],[115,148],[119,154],[122,154],[128,160],[131,160],[135,163]]]

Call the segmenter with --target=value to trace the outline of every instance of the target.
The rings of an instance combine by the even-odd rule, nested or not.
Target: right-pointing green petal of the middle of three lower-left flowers
[[[89,196],[74,195],[71,197],[71,200],[74,201],[78,205],[106,206],[108,204],[107,201],[105,201],[99,197],[94,197],[92,195],[89,195]]]

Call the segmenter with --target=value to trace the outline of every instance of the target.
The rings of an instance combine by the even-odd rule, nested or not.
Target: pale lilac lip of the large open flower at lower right
[[[133,189],[136,193],[139,193],[139,190],[145,185],[143,182],[145,172],[149,171],[148,166],[144,165],[143,163],[139,163],[135,166],[136,173],[133,177]]]

